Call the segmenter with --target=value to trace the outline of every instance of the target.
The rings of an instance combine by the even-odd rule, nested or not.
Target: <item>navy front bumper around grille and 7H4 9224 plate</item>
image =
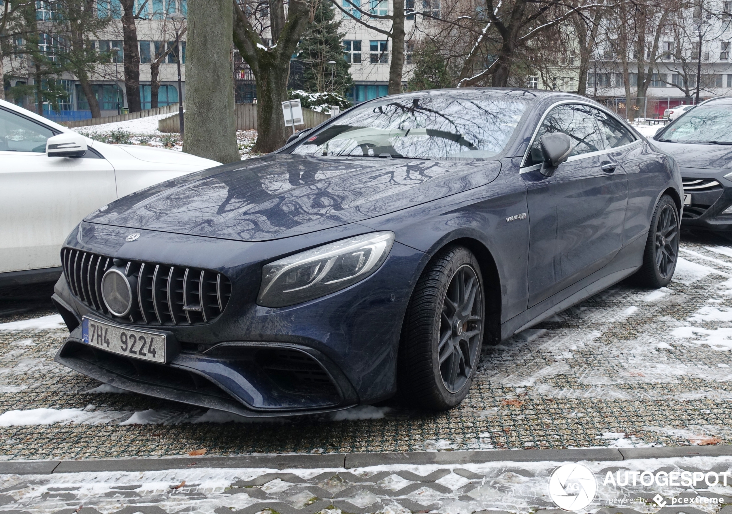
[[[395,243],[382,267],[362,282],[274,309],[255,304],[261,265],[312,243],[290,238],[285,247],[281,240],[233,242],[139,231],[138,244],[131,244],[124,242],[129,232],[82,223],[65,247],[212,269],[231,279],[231,299],[208,323],[143,326],[93,310],[62,276],[53,299],[72,333],[56,354],[57,362],[124,390],[247,417],[334,411],[394,394],[403,315],[424,253]],[[334,240],[351,235],[342,233],[319,236]],[[130,329],[163,329],[175,341],[177,355],[163,365],[86,345],[77,326],[82,316]]]

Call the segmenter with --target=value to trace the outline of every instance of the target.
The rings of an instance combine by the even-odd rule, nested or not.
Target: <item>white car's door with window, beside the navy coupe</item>
[[[60,267],[71,229],[116,198],[114,170],[98,154],[45,154],[56,133],[0,108],[0,273]]]

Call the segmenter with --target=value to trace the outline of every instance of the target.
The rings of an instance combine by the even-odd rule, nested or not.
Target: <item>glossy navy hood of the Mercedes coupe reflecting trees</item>
[[[367,220],[493,181],[498,161],[269,154],[154,185],[91,223],[264,241]]]

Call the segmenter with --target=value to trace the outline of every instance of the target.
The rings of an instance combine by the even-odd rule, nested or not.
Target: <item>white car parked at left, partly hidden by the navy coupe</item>
[[[0,286],[56,280],[61,244],[90,212],[143,187],[220,165],[115,145],[0,100]]]

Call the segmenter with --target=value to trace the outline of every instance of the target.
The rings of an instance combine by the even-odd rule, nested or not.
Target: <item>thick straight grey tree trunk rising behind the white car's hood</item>
[[[231,163],[239,160],[231,67],[231,0],[190,0],[183,151]],[[285,84],[287,75],[285,75]]]

